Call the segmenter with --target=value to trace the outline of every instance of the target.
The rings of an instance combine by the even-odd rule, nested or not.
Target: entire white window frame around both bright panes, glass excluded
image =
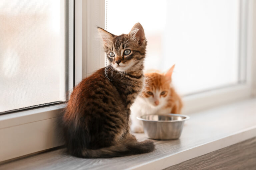
[[[78,84],[83,78],[105,65],[105,54],[97,35],[96,27],[104,28],[104,0],[69,0],[69,13],[75,5],[75,21],[69,15],[69,87]],[[184,97],[183,113],[190,114],[210,107],[248,99],[256,95],[256,2],[248,3],[246,83],[232,87],[211,90]],[[254,21],[254,22],[253,22]],[[75,30],[73,30],[75,22]],[[246,29],[245,28],[245,29]],[[73,37],[74,31],[74,37]],[[73,43],[73,38],[75,43]],[[73,44],[75,50],[73,51]],[[247,52],[246,52],[247,51]],[[73,63],[73,52],[75,63]],[[93,57],[90,57],[93,56]],[[74,69],[73,69],[74,65]],[[74,80],[74,82],[73,82]],[[69,89],[72,92],[72,89]],[[200,105],[198,105],[200,103]],[[57,120],[65,104],[0,115],[0,162],[19,156],[35,153],[63,143],[59,140]]]

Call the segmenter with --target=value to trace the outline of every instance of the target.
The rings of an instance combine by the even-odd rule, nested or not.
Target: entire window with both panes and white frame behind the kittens
[[[251,96],[250,90],[254,86],[251,86],[250,81],[256,82],[255,78],[250,78],[250,75],[255,75],[255,70],[250,69],[255,61],[251,49],[255,46],[252,33],[255,30],[252,26],[255,14],[252,11],[256,6],[253,1],[124,2],[127,1],[0,1],[0,112],[65,101],[67,89],[70,93],[74,84],[104,67],[104,51],[100,39],[96,38],[97,26],[104,28],[105,25],[105,29],[118,35],[128,33],[136,22],[143,25],[149,42],[146,68],[166,71],[172,64],[176,64],[173,74],[176,88],[183,95],[196,93],[183,98],[184,109],[187,110],[183,114]],[[245,14],[247,11],[248,16]],[[22,17],[18,18],[19,15]],[[29,15],[33,21],[30,24],[31,30],[22,29]],[[11,22],[15,17],[18,23]],[[211,18],[211,22],[207,18]],[[17,24],[21,30],[16,30],[16,37],[3,39],[3,36],[8,36],[8,32],[18,29],[14,27],[10,30],[12,24]],[[222,27],[218,28],[220,24]],[[202,28],[197,30],[197,27]],[[23,28],[29,26],[23,25]],[[35,39],[36,36],[41,39]],[[42,39],[45,41],[41,42]],[[203,40],[207,42],[203,43]],[[6,45],[7,42],[9,45]],[[223,44],[227,48],[223,48]],[[41,48],[37,45],[41,45]],[[3,51],[9,46],[12,51],[7,52],[8,57],[4,57],[6,52]],[[216,51],[219,55],[213,55]],[[27,59],[28,56],[30,58]],[[218,76],[211,77],[213,70]],[[25,71],[29,74],[26,75]],[[19,84],[19,81],[23,83]],[[226,88],[221,88],[223,86]],[[16,90],[16,94],[10,89]],[[198,93],[203,90],[206,92]],[[55,131],[61,107],[65,107],[65,104],[0,115],[1,153],[4,155],[0,156],[0,161],[61,145]]]

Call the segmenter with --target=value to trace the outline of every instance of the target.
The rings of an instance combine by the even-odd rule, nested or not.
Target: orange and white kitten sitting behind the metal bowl
[[[165,74],[158,71],[145,73],[146,85],[131,107],[131,131],[137,133],[144,131],[142,121],[137,120],[136,117],[146,114],[181,113],[183,106],[181,98],[171,84],[174,66]]]

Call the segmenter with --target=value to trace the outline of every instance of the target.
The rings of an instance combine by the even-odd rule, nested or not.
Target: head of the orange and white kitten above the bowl
[[[171,94],[171,81],[173,65],[165,74],[158,72],[146,73],[146,86],[141,97],[153,108],[162,107],[167,103],[168,96]]]

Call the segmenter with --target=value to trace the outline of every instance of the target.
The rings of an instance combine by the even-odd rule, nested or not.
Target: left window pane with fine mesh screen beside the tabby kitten
[[[67,2],[0,2],[0,113],[66,101]]]

